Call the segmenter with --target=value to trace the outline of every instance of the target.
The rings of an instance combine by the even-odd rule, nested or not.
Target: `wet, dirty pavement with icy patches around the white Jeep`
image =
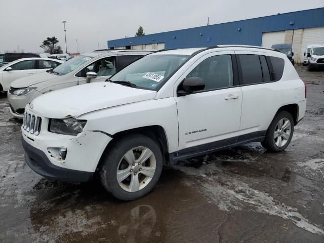
[[[192,158],[131,202],[97,180],[75,185],[31,171],[21,122],[2,95],[0,242],[324,242],[324,72],[297,70],[307,111],[286,151],[251,143]]]

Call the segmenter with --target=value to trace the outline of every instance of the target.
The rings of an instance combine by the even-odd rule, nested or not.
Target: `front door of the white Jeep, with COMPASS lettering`
[[[200,77],[206,85],[203,91],[176,97],[179,155],[236,142],[242,92],[237,83],[237,70],[233,70],[234,59],[234,52],[207,54],[181,77]]]

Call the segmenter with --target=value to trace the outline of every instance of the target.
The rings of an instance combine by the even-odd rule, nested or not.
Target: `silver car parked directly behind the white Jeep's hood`
[[[152,51],[86,53],[47,72],[17,79],[8,92],[11,113],[22,118],[26,104],[35,97],[53,90],[86,84],[90,80],[103,81],[148,53]]]

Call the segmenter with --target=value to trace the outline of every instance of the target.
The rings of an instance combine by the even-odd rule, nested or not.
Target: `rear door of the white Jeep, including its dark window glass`
[[[265,56],[265,53],[235,51],[235,54],[242,90],[242,114],[238,137],[240,142],[264,136],[280,107],[281,89],[276,80],[271,79],[273,67],[270,57]],[[276,76],[280,79],[282,73],[281,76],[280,73],[276,73]]]

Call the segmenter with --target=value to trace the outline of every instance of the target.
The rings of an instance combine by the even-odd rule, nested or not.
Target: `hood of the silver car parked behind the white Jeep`
[[[48,72],[40,72],[40,73],[35,73],[33,75],[28,75],[25,77],[21,77],[16,79],[14,82],[10,84],[11,87],[13,88],[27,88],[29,86],[33,87],[39,83],[47,82],[49,80],[56,78],[60,78],[62,76],[58,76],[55,74],[51,74]],[[36,86],[37,87],[37,86]]]

